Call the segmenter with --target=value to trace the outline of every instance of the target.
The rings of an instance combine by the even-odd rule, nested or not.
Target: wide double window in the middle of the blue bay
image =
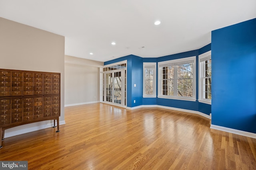
[[[158,63],[158,97],[196,100],[196,57]]]

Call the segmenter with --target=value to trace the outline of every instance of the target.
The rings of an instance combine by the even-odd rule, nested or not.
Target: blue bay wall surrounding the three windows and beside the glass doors
[[[174,59],[181,59],[186,57],[196,56],[196,99],[198,99],[198,55],[211,50],[211,44],[206,45],[198,50],[188,51],[184,53],[178,53],[174,55],[168,55],[158,58],[141,58],[135,55],[128,55],[111,61],[107,61],[104,65],[112,64],[120,61],[127,60],[127,106],[135,107],[141,105],[159,105],[176,107],[180,109],[188,109],[194,111],[200,111],[207,115],[211,113],[211,105],[202,104],[198,100],[191,102],[185,100],[173,100],[164,98],[143,98],[143,63],[158,63],[161,61],[168,61]],[[156,69],[158,75],[158,69]],[[158,77],[156,78],[156,89],[158,89]],[[136,87],[134,87],[136,84]],[[156,96],[158,92],[156,92]],[[136,100],[136,103],[134,103]]]

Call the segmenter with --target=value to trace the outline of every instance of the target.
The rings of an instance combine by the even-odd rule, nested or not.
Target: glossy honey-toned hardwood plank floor
[[[65,125],[3,141],[0,160],[30,170],[249,170],[256,139],[210,129],[209,119],[161,108],[65,107]]]

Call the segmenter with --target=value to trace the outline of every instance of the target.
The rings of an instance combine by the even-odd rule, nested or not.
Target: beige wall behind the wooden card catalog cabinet
[[[0,68],[61,73],[61,116],[64,120],[65,37],[0,18]],[[41,121],[7,129],[5,137],[44,129],[53,121]],[[60,129],[61,131],[61,129]]]

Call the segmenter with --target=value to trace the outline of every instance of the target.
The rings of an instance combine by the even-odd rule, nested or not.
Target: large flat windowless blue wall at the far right
[[[256,18],[212,31],[212,124],[256,133]]]

